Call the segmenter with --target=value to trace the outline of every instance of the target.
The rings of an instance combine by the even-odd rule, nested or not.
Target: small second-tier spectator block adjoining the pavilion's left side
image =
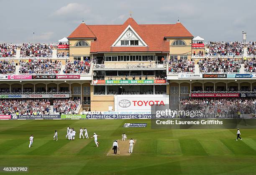
[[[73,73],[73,74],[86,74],[90,72],[90,61],[89,60],[74,60],[66,62],[65,69],[63,70],[64,73]]]

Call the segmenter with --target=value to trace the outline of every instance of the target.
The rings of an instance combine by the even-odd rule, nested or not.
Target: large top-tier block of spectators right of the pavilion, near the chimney
[[[228,56],[240,56],[243,55],[243,42],[207,42],[205,48],[209,51],[206,55],[228,55]]]

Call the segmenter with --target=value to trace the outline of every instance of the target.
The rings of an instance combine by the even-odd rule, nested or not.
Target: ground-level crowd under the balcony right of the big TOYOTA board
[[[204,114],[216,116],[253,114],[256,109],[256,99],[248,98],[207,98],[207,99],[182,99],[180,100],[182,110],[202,110]]]

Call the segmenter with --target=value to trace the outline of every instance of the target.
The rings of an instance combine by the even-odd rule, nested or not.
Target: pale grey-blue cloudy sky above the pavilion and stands
[[[256,40],[253,0],[0,0],[0,43],[54,42],[82,22],[138,24],[180,22],[205,41]],[[33,34],[35,32],[35,34]],[[34,35],[34,36],[33,36]]]

